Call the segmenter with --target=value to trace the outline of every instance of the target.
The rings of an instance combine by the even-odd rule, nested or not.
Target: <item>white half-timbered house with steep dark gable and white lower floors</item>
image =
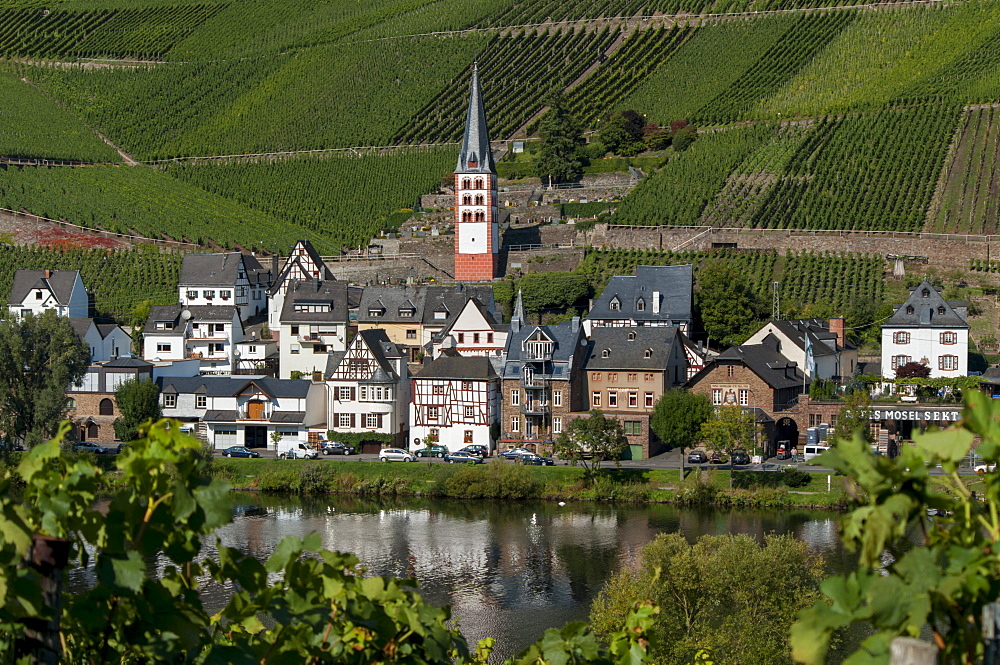
[[[346,351],[331,354],[326,383],[330,430],[390,434],[393,445],[406,445],[409,372],[384,330],[362,330]]]

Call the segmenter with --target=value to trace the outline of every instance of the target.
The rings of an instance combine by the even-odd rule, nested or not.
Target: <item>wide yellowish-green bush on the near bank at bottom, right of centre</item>
[[[649,599],[660,608],[650,631],[653,662],[688,665],[708,650],[715,662],[791,664],[779,636],[796,608],[819,597],[822,578],[822,560],[792,536],[767,536],[763,545],[747,535],[702,536],[691,545],[661,534],[643,548],[640,566],[607,583],[590,622],[609,633],[636,600]]]

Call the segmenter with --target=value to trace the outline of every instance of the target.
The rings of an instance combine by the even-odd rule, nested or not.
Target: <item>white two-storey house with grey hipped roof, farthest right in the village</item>
[[[882,376],[916,362],[927,365],[931,378],[965,376],[969,372],[969,322],[965,301],[945,300],[923,282],[882,324]]]

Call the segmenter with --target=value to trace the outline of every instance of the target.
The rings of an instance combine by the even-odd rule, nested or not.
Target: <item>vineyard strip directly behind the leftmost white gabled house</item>
[[[114,252],[4,245],[0,246],[0,291],[10,293],[16,270],[79,270],[83,283],[94,293],[98,314],[123,317],[147,300],[154,305],[177,302],[181,258],[180,253],[160,252],[148,245]]]

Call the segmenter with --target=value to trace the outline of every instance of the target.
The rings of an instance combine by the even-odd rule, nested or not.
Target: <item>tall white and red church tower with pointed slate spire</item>
[[[486,129],[479,69],[472,69],[472,92],[465,137],[455,167],[455,279],[493,279],[498,272],[497,169]]]

